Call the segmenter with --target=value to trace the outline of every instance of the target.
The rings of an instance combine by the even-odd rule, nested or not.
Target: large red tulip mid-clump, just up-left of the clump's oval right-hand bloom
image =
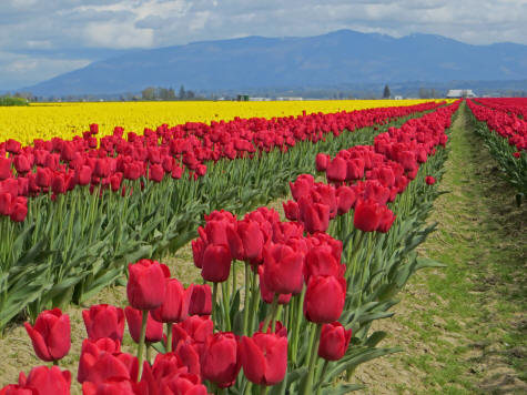
[[[270,243],[264,247],[264,282],[270,291],[280,294],[298,294],[304,281],[304,255],[285,244]]]

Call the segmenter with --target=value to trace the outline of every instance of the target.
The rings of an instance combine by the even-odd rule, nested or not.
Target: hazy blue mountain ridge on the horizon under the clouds
[[[33,87],[37,95],[323,88],[404,81],[521,80],[527,45],[472,45],[440,36],[399,39],[339,30],[307,38],[247,37],[130,51]]]

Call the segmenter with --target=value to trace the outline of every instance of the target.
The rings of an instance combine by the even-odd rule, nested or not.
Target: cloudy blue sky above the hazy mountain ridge
[[[338,29],[527,44],[527,0],[0,0],[0,91],[130,49]]]

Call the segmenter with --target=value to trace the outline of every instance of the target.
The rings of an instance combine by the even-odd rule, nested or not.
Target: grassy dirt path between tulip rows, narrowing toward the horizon
[[[463,105],[419,254],[447,264],[418,273],[396,315],[376,323],[404,352],[361,365],[362,394],[526,394],[527,204],[473,130]]]

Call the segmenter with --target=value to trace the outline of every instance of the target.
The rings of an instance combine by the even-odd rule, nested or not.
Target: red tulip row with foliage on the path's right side
[[[527,100],[467,100],[477,122],[476,132],[518,191],[518,204],[527,196]]]

